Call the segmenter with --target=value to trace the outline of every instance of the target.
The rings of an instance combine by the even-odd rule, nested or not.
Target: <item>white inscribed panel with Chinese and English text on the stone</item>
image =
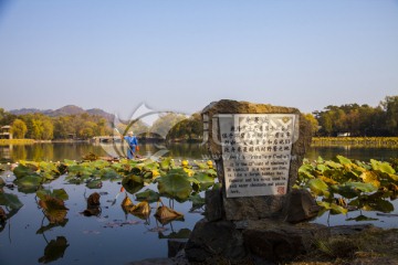
[[[297,117],[219,115],[227,197],[285,194]]]

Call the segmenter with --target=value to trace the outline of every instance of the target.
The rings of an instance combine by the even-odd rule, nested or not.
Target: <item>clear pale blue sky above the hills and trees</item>
[[[0,0],[0,107],[122,117],[398,95],[397,0]]]

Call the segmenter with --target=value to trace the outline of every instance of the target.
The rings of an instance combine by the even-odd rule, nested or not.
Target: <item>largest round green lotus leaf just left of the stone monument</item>
[[[186,200],[189,198],[192,187],[188,174],[182,169],[172,169],[166,176],[158,178],[158,190],[171,199]]]

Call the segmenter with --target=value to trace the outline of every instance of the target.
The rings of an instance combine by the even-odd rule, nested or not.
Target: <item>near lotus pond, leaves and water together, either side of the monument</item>
[[[314,222],[397,227],[396,160],[338,153],[347,156],[311,157],[300,170],[296,188],[308,189],[324,208]],[[1,163],[0,264],[166,257],[167,240],[187,239],[202,218],[203,191],[219,188],[211,160],[175,157]]]

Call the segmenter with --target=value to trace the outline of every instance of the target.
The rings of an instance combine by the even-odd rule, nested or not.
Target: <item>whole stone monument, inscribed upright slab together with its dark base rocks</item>
[[[292,189],[312,138],[298,109],[223,99],[207,106],[202,120],[222,188],[206,192],[206,218],[185,247],[190,262],[277,263],[327,234],[301,223],[318,208],[307,191]]]

